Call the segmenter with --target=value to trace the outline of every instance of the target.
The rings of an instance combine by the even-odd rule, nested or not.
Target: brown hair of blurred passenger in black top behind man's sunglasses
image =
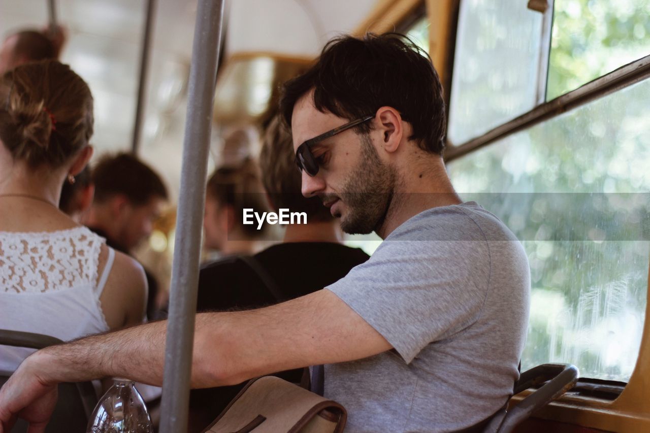
[[[300,192],[300,172],[296,167],[291,132],[287,131],[279,116],[272,118],[266,127],[259,166],[264,189],[276,211],[291,209],[292,212],[305,212],[307,221],[315,222],[331,221],[334,218],[330,209],[320,202],[320,198],[306,198]]]

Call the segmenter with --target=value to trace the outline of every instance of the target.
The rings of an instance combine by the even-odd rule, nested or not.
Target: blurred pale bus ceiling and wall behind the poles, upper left
[[[197,1],[156,0],[154,3],[151,66],[138,156],[155,166],[170,185],[172,194],[177,194]],[[268,104],[264,98],[271,90],[272,79],[269,67],[272,64],[265,62],[263,55],[313,59],[329,38],[354,31],[374,3],[375,0],[228,2],[224,17],[224,65],[228,64],[229,57],[242,53],[262,59],[251,66],[248,81],[233,83],[253,83],[254,89],[227,90],[250,99],[244,109],[259,110],[260,105]],[[55,5],[58,20],[69,33],[61,59],[71,64],[93,90],[96,157],[107,151],[130,151],[147,2],[57,0]],[[341,10],[345,13],[340,14]],[[42,28],[47,21],[46,1],[0,2],[3,35],[25,27]],[[250,118],[246,114],[239,112],[237,120],[229,120],[248,122]],[[232,125],[214,124],[214,159],[220,157],[222,129],[229,126]]]

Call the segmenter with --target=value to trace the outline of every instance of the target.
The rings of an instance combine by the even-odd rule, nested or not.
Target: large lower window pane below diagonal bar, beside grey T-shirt
[[[448,164],[463,199],[495,213],[528,253],[522,369],[567,362],[629,380],[650,261],[649,98],[646,80]]]

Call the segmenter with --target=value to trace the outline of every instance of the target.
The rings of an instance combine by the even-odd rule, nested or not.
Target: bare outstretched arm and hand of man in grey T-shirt
[[[23,415],[38,413],[38,419],[51,412],[51,394],[59,382],[120,376],[162,384],[165,330],[166,322],[155,322],[36,352],[0,389],[0,433],[25,407]],[[203,313],[196,318],[192,387],[236,384],[390,348],[382,335],[327,290],[253,311]]]

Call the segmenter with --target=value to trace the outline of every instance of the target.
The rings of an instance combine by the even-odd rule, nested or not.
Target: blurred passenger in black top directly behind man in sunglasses
[[[343,278],[369,258],[359,248],[341,244],[339,222],[320,199],[302,196],[300,172],[294,161],[291,134],[279,118],[274,118],[266,129],[259,161],[268,201],[276,212],[305,212],[307,224],[285,226],[284,243],[255,256],[231,256],[204,266],[199,274],[198,311],[252,309],[298,298]],[[296,369],[277,375],[300,382],[302,373]],[[202,431],[243,386],[190,391],[189,431]]]

